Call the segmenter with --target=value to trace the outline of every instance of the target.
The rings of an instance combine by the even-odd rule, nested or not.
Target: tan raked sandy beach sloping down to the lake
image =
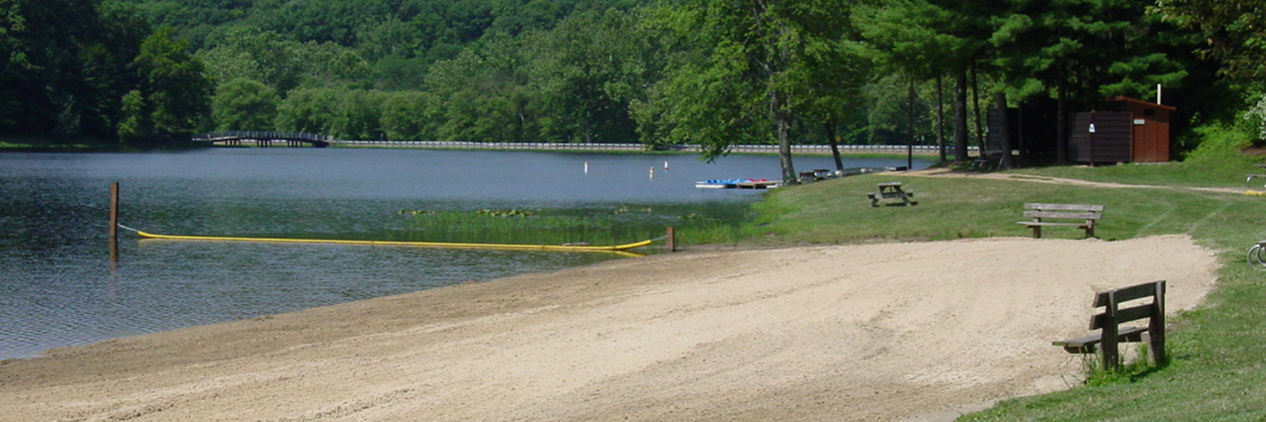
[[[0,362],[4,421],[951,421],[1076,385],[1096,290],[1186,236],[663,253]]]

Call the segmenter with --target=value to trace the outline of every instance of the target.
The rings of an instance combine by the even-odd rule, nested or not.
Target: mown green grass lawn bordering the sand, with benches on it
[[[1246,250],[1266,238],[1266,196],[1242,194],[1247,162],[1051,167],[1017,171],[1012,175],[1018,177],[1008,180],[901,174],[828,180],[772,190],[757,205],[760,219],[743,226],[736,243],[761,247],[1031,236],[1028,228],[1015,224],[1023,219],[1025,201],[1103,204],[1104,218],[1096,227],[1103,240],[1186,233],[1217,251],[1223,264],[1219,286],[1205,303],[1169,322],[1171,364],[1103,385],[1006,400],[961,419],[1266,421],[1266,272],[1244,262]],[[1036,175],[1238,190],[1087,188],[1023,180]],[[871,208],[866,193],[885,181],[901,181],[914,190],[918,205]],[[1082,236],[1074,228],[1043,231],[1043,237]]]

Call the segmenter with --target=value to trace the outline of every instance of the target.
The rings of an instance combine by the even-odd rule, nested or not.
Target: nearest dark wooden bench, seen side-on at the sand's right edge
[[[1151,303],[1122,308],[1131,300],[1148,299]],[[1132,285],[1095,294],[1095,308],[1103,313],[1090,317],[1090,329],[1099,329],[1085,337],[1052,342],[1062,346],[1070,354],[1094,354],[1095,346],[1103,350],[1104,368],[1113,369],[1120,364],[1118,343],[1147,342],[1152,362],[1165,362],[1165,280]],[[1120,327],[1120,324],[1147,319],[1144,327]]]

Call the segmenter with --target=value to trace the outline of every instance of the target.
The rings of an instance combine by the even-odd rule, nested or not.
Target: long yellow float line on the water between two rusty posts
[[[120,228],[129,229],[141,236],[142,240],[167,240],[167,241],[214,241],[214,242],[272,242],[272,243],[332,243],[332,245],[367,245],[367,246],[415,246],[415,247],[448,247],[448,248],[484,248],[484,250],[519,250],[519,251],[563,251],[563,252],[625,252],[636,247],[648,246],[656,240],[613,245],[517,245],[517,243],[457,243],[457,242],[410,242],[410,241],[348,241],[348,240],[313,240],[313,238],[276,238],[276,237],[230,237],[230,236],[172,236],[142,232],[123,224]]]

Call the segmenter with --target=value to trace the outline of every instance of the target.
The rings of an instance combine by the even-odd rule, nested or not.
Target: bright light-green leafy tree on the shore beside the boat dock
[[[796,105],[806,104],[798,96],[818,94],[799,68],[812,62],[815,41],[838,37],[838,28],[818,23],[848,6],[843,0],[662,1],[652,24],[667,29],[680,52],[657,90],[671,141],[703,144],[704,157],[715,158],[730,144],[772,139],[782,180],[794,182],[790,133]],[[762,129],[772,136],[760,136]]]

